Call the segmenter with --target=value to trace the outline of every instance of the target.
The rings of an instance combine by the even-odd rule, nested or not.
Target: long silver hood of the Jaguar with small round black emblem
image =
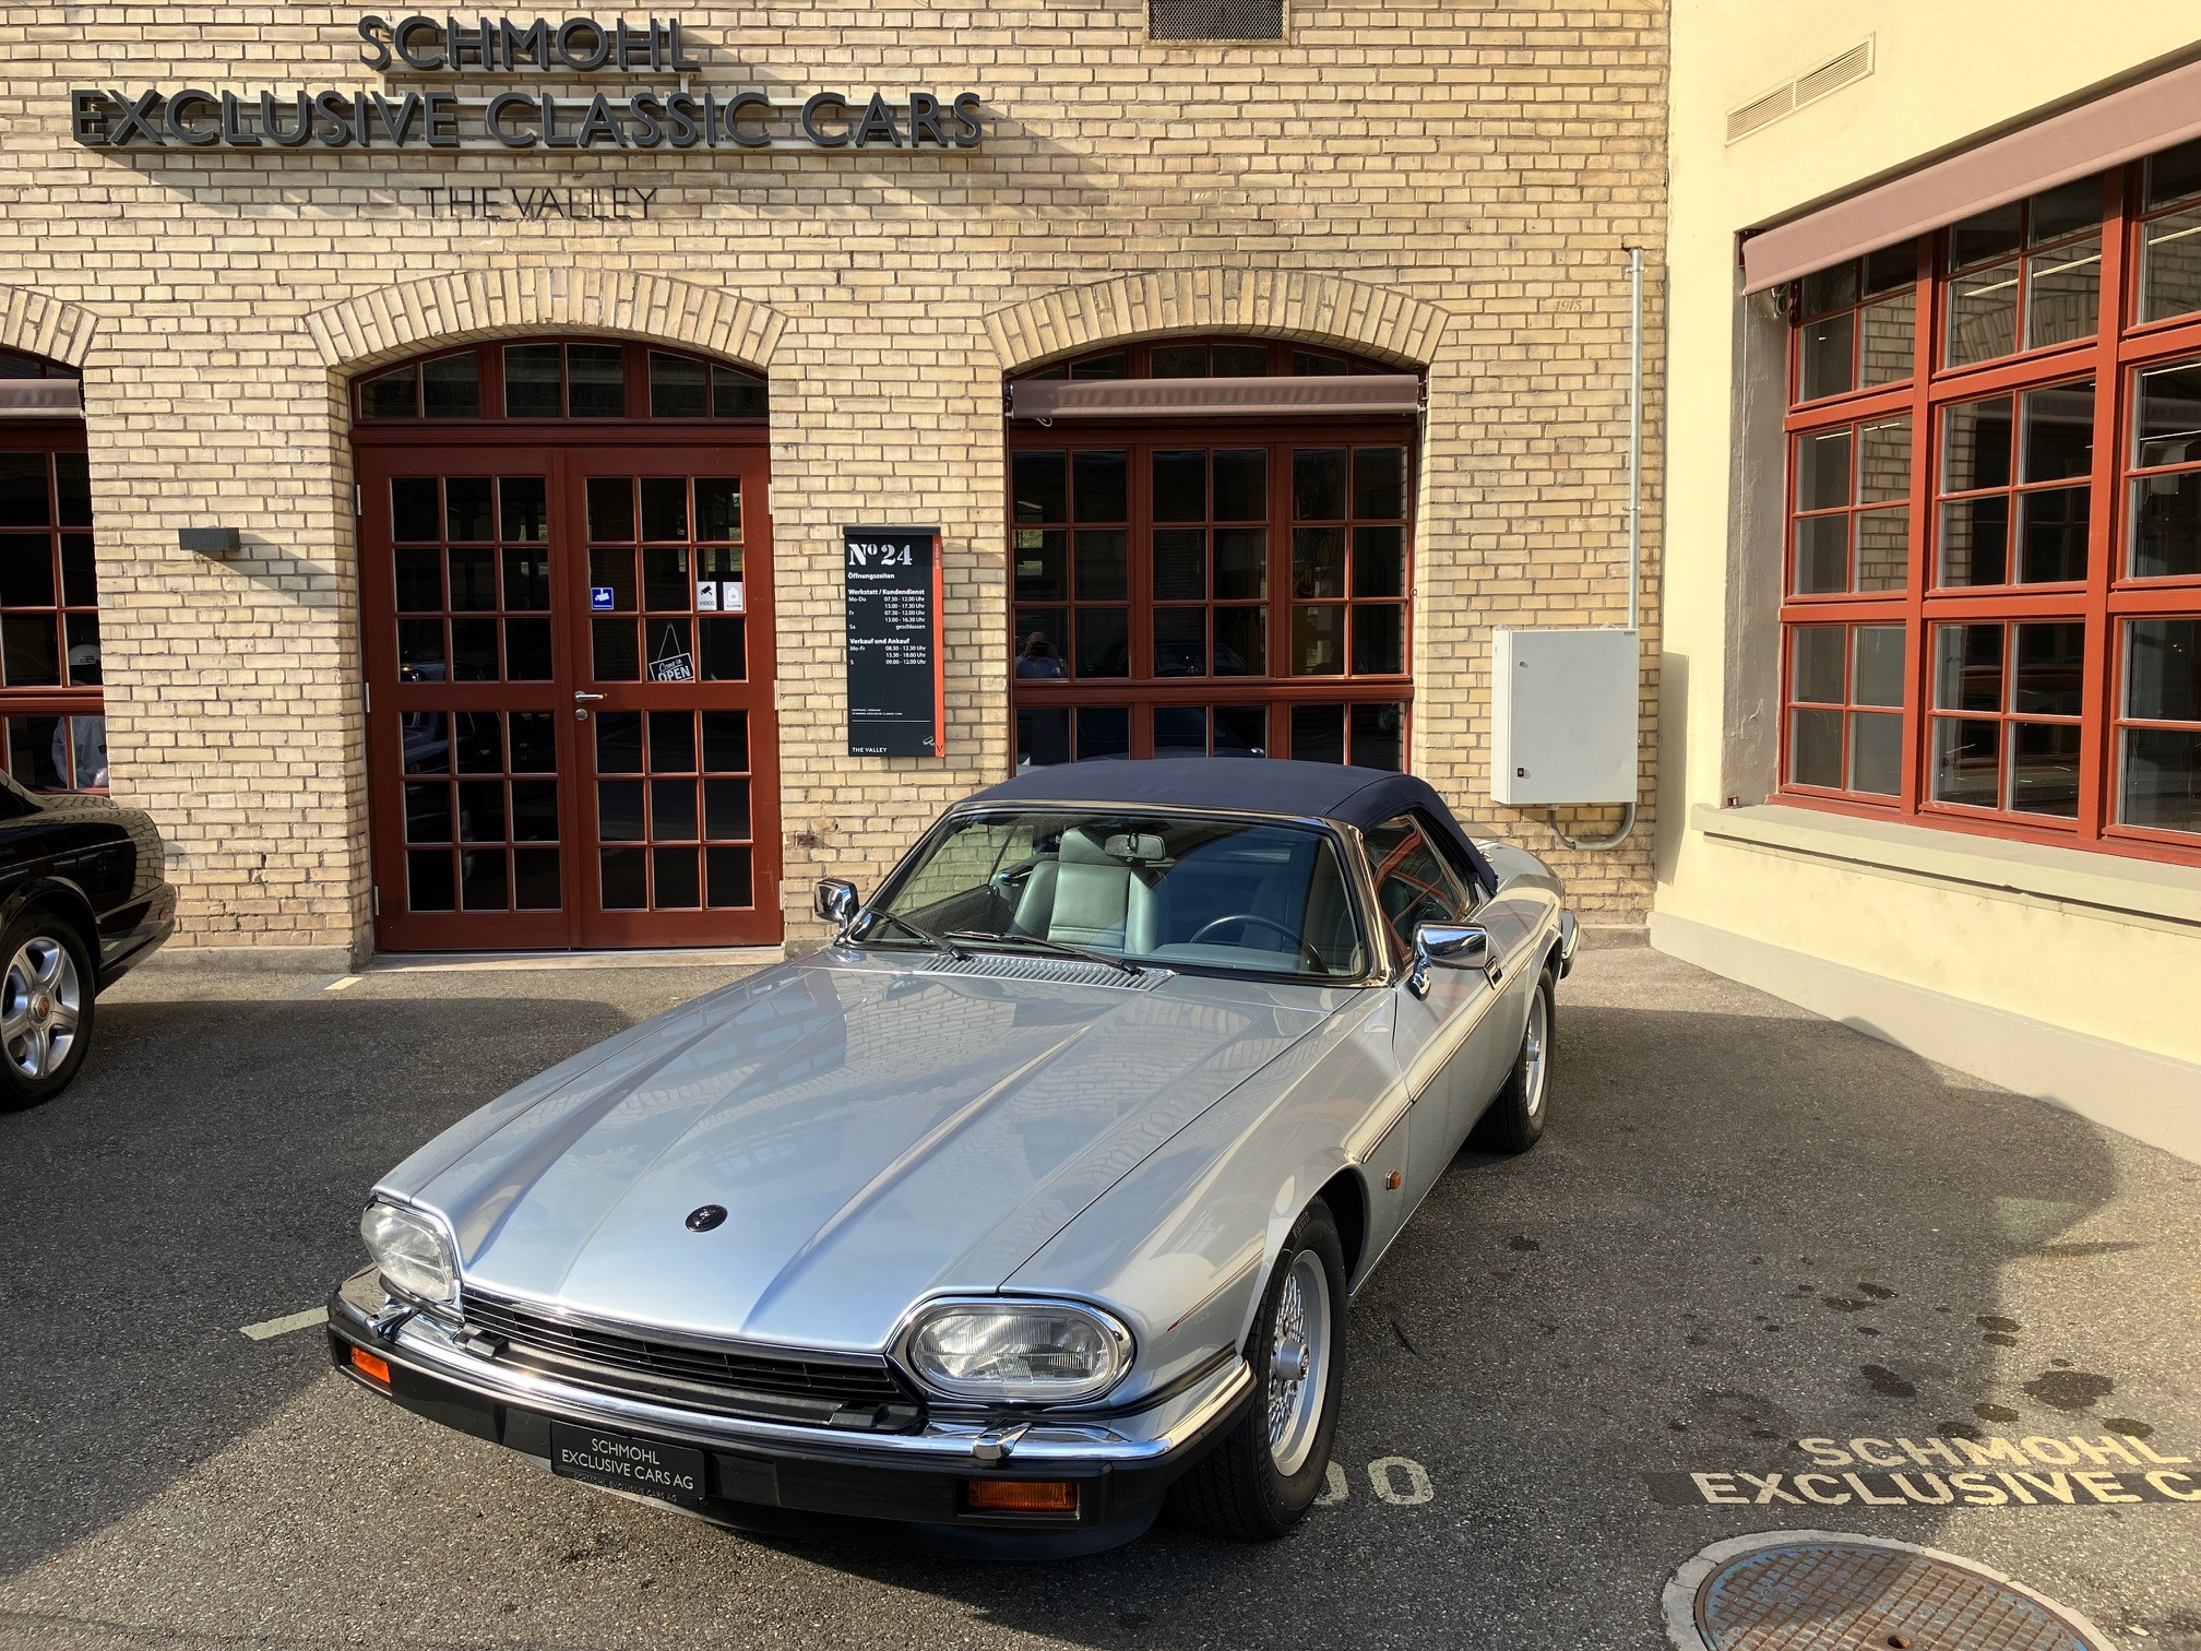
[[[775,969],[491,1103],[383,1191],[451,1222],[473,1290],[872,1349],[927,1294],[995,1290],[1343,999],[1028,962]],[[691,1231],[707,1204],[724,1222]]]

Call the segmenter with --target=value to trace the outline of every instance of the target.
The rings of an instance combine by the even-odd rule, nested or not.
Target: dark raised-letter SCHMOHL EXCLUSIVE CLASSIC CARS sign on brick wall
[[[702,70],[678,20],[381,18],[359,20],[361,62],[390,75],[680,75],[678,90],[284,90],[79,88],[70,136],[90,147],[227,150],[973,150],[986,136],[977,92],[812,92],[775,103],[757,90],[693,90]]]

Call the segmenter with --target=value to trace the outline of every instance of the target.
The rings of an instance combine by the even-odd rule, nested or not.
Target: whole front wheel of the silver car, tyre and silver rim
[[[1217,1537],[1272,1541],[1323,1493],[1345,1389],[1345,1246],[1323,1202],[1283,1242],[1246,1363],[1252,1404],[1175,1484],[1175,1506]]]

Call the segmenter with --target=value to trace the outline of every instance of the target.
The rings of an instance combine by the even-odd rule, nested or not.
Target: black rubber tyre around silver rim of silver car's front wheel
[[[1325,1352],[1321,1376],[1321,1409],[1312,1424],[1292,1429],[1283,1444],[1294,1446],[1301,1462],[1296,1470],[1283,1473],[1270,1448],[1270,1376],[1277,1358],[1277,1314],[1283,1310],[1285,1290],[1294,1268],[1307,1257],[1327,1286],[1325,1308]],[[1305,1275],[1301,1277],[1301,1303],[1305,1303]],[[1296,1526],[1314,1499],[1323,1493],[1329,1470],[1329,1442],[1338,1431],[1338,1398],[1345,1391],[1345,1246],[1338,1239],[1338,1224],[1329,1206],[1316,1200],[1292,1226],[1283,1242],[1277,1268],[1261,1297],[1261,1312],[1255,1314],[1252,1336],[1246,1343],[1246,1360],[1252,1365],[1255,1398],[1222,1442],[1202,1457],[1171,1490],[1171,1506],[1189,1526],[1233,1541],[1274,1541]]]

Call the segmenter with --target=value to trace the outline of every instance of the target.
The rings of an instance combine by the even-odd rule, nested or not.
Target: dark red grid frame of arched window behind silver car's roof
[[[1063,376],[1065,372],[1076,376],[1078,368],[1096,359],[1120,357],[1123,374],[1116,374],[1116,363],[1109,361],[1109,376],[1149,376],[1156,350],[1189,348],[1189,346],[1226,346],[1226,348],[1263,348],[1268,350],[1270,372],[1277,376],[1290,374],[1294,365],[1294,354],[1321,354],[1325,361],[1343,363],[1340,370],[1347,372],[1389,372],[1380,363],[1347,357],[1336,350],[1316,350],[1312,346],[1301,346],[1292,341],[1274,339],[1241,339],[1241,337],[1195,337],[1195,339],[1153,339],[1142,343],[1114,346],[1109,350],[1087,352],[1070,361],[1050,363],[1041,372],[1021,376]],[[1123,713],[1127,720],[1127,737],[1123,755],[1151,757],[1158,748],[1156,737],[1156,713],[1180,707],[1200,707],[1208,711],[1208,748],[1219,748],[1215,711],[1222,709],[1255,709],[1259,711],[1259,729],[1263,737],[1263,751],[1272,757],[1290,757],[1294,753],[1294,720],[1325,715],[1329,711],[1338,713],[1338,744],[1336,751],[1345,762],[1356,757],[1356,748],[1362,757],[1369,753],[1380,753],[1380,759],[1389,762],[1389,748],[1395,744],[1398,766],[1404,770],[1411,762],[1411,707],[1413,707],[1413,533],[1415,533],[1415,484],[1420,475],[1420,442],[1411,418],[1360,418],[1349,423],[1318,423],[1318,420],[1202,420],[1202,423],[1149,423],[1149,420],[1123,420],[1105,427],[1078,427],[1078,429],[1037,429],[1030,425],[1008,427],[1008,464],[1006,464],[1006,493],[1008,493],[1008,524],[1010,524],[1010,570],[1008,570],[1008,623],[1012,632],[1012,647],[1021,652],[1028,630],[1045,630],[1041,625],[1028,625],[1026,621],[1034,614],[1061,614],[1061,665],[1065,676],[1041,678],[1041,676],[1015,676],[1010,682],[1010,751],[1019,748],[1017,718],[1030,711],[1070,711],[1072,744],[1065,759],[1076,759],[1078,755],[1089,755],[1085,748],[1085,726],[1092,718],[1094,733],[1103,729],[1109,733],[1107,748],[1114,751],[1114,720],[1100,724],[1098,718],[1114,718]],[[1219,517],[1204,522],[1169,522],[1156,520],[1153,502],[1153,456],[1167,451],[1233,451],[1233,449],[1268,449],[1268,511],[1263,526],[1268,531],[1268,577],[1266,594],[1259,599],[1230,601],[1215,594],[1213,581],[1206,586],[1206,597],[1180,601],[1158,599],[1156,594],[1156,566],[1153,566],[1153,535],[1169,533],[1171,528],[1202,528],[1213,533]],[[1296,449],[1323,449],[1343,447],[1347,449],[1347,515],[1321,515],[1301,517],[1294,509],[1294,478],[1292,478],[1292,453]],[[1402,447],[1406,451],[1406,478],[1404,478],[1404,515],[1400,517],[1369,517],[1356,513],[1354,493],[1354,464],[1356,451],[1369,447]],[[1129,456],[1129,473],[1125,484],[1127,513],[1123,520],[1074,520],[1078,513],[1076,500],[1067,502],[1067,520],[1019,520],[1017,506],[1017,458],[1023,453],[1050,453],[1063,451],[1070,456],[1067,469],[1074,478],[1076,453],[1078,451],[1125,451]],[[1070,480],[1070,491],[1074,493],[1076,482]],[[1213,464],[1211,464],[1211,511],[1217,509],[1213,500]],[[1244,522],[1241,522],[1244,524]],[[1228,522],[1224,524],[1228,528]],[[1087,601],[1081,597],[1076,586],[1076,533],[1078,531],[1123,531],[1125,533],[1125,557],[1127,557],[1127,583],[1125,594],[1100,597]],[[1301,528],[1340,528],[1345,533],[1345,575],[1343,583],[1334,592],[1294,597],[1294,535]],[[1362,594],[1354,590],[1354,546],[1360,528],[1398,528],[1402,537],[1402,570],[1400,570],[1400,592],[1391,594]],[[1065,542],[1065,586],[1061,599],[1034,599],[1019,601],[1017,597],[1017,555],[1019,555],[1019,533],[1061,533]],[[1213,564],[1211,564],[1213,566]],[[1215,623],[1213,614],[1219,608],[1263,608],[1263,636],[1266,636],[1266,669],[1259,674],[1215,674]],[[1081,608],[1120,608],[1127,619],[1127,654],[1129,674],[1127,676],[1085,676],[1076,674],[1076,612]],[[1329,674],[1292,674],[1290,663],[1292,652],[1292,630],[1294,612],[1299,608],[1338,608],[1343,610],[1340,621],[1340,647],[1345,658],[1340,665],[1345,669]],[[1356,645],[1356,610],[1362,608],[1395,608],[1398,630],[1400,630],[1400,669],[1398,671],[1354,671],[1354,645]],[[1204,610],[1208,614],[1206,641],[1208,641],[1208,674],[1204,676],[1164,676],[1156,667],[1156,619],[1171,610]],[[1395,731],[1382,729],[1380,724],[1391,715],[1398,715]],[[1310,737],[1316,737],[1310,733]],[[1327,740],[1325,740],[1325,748]]]

